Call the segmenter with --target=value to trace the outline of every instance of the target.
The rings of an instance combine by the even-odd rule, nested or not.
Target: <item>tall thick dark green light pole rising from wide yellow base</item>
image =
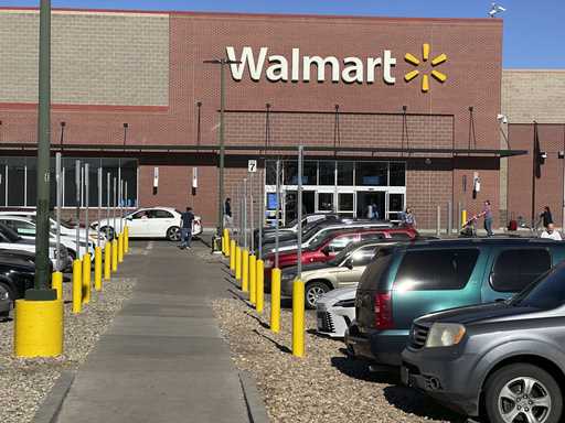
[[[49,199],[51,150],[51,1],[40,3],[39,40],[39,113],[38,113],[38,214],[35,237],[35,290],[49,290]],[[57,251],[58,254],[58,251]],[[47,296],[49,295],[49,296]],[[52,299],[52,294],[38,300]],[[32,295],[33,296],[33,295]],[[31,300],[31,299],[30,299]],[[54,300],[54,299],[53,299]]]

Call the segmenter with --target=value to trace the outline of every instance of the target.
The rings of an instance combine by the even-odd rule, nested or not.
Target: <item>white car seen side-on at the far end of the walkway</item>
[[[116,218],[116,227],[120,228],[120,218]],[[181,238],[181,213],[171,207],[146,207],[138,208],[124,217],[127,221],[130,238],[167,238],[178,241]],[[125,221],[121,223],[121,227]],[[100,232],[108,230],[109,238],[114,237],[114,219],[102,219],[93,221],[90,228],[97,229],[100,225]],[[194,216],[192,221],[192,236],[202,234],[200,216]]]

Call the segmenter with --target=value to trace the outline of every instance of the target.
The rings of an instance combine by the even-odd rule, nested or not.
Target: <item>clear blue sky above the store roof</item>
[[[483,18],[486,0],[52,0],[53,7],[192,10],[256,13],[320,13],[386,17]],[[39,0],[0,0],[1,7],[35,7]],[[500,0],[505,68],[565,68],[564,0]]]

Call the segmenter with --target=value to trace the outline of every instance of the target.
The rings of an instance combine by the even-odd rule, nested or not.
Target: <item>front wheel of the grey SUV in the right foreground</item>
[[[516,364],[503,367],[488,380],[484,409],[490,422],[557,423],[563,411],[559,386],[544,369]]]

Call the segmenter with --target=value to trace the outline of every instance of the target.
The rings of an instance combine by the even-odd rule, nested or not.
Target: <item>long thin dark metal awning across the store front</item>
[[[298,145],[264,145],[264,144],[226,144],[226,152],[298,152]],[[36,151],[35,143],[0,143],[0,151]],[[179,145],[179,144],[151,144],[151,145],[124,145],[124,144],[51,144],[51,151],[85,151],[85,152],[125,152],[125,153],[169,153],[169,152],[211,152],[217,153],[220,145]],[[510,158],[514,155],[527,154],[527,150],[495,150],[495,149],[434,149],[434,148],[394,148],[394,147],[332,147],[332,145],[303,145],[306,152],[327,152],[327,153],[366,153],[366,154],[418,154],[418,155],[471,155],[471,156],[494,156]]]

